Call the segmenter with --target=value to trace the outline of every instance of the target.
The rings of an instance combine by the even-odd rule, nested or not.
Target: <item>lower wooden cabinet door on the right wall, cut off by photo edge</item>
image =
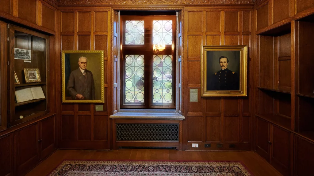
[[[295,139],[295,175],[313,175],[314,144],[296,136]]]

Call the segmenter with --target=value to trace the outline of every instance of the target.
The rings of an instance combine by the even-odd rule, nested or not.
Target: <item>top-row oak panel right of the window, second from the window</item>
[[[206,12],[206,32],[220,32],[221,12]]]

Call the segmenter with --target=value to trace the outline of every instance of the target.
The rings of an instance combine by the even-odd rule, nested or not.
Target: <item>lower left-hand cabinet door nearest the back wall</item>
[[[55,116],[48,117],[40,121],[40,140],[41,159],[46,158],[55,149]]]

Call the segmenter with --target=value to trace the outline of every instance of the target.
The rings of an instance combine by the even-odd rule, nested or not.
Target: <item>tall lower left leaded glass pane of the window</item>
[[[124,98],[126,104],[144,103],[144,55],[125,56]]]

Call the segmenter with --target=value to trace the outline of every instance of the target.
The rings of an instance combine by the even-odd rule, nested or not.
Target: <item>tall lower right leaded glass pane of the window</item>
[[[172,104],[172,56],[154,55],[153,104]]]

